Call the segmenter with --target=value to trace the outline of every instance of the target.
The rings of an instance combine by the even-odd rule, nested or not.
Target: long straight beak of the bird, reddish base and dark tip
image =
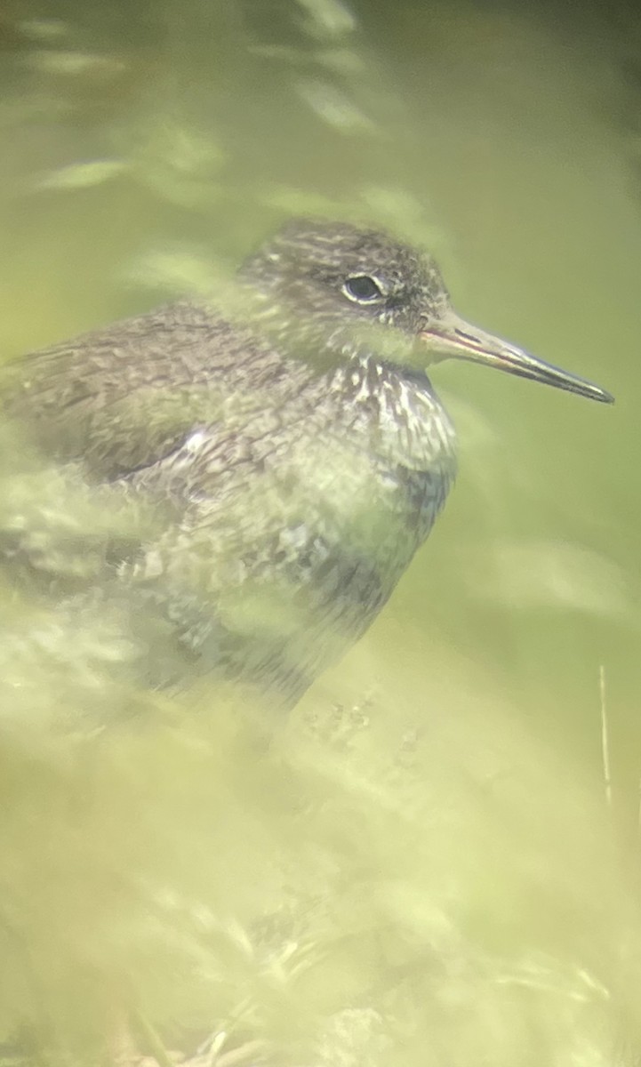
[[[578,393],[579,396],[602,403],[613,403],[614,397],[606,393],[593,382],[571,375],[550,363],[544,363],[530,355],[523,348],[509,345],[493,334],[470,325],[465,319],[459,318],[453,312],[447,318],[439,319],[433,325],[421,330],[421,341],[433,349],[440,359],[469,360],[472,363],[483,363],[498,370],[507,370],[519,378],[531,378],[545,385],[555,385],[558,389]]]

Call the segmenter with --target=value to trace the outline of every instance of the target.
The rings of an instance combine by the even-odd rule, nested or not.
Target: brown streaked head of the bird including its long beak
[[[605,389],[461,318],[434,259],[385,233],[294,219],[239,273],[270,336],[298,354],[375,354],[423,370],[467,360],[609,403]]]

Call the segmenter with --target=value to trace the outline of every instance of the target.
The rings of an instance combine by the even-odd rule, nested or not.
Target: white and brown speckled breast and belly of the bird
[[[190,439],[186,522],[134,573],[170,603],[204,669],[289,697],[373,621],[455,471],[424,376],[364,361],[307,381],[294,401],[244,420],[234,455],[215,427]]]

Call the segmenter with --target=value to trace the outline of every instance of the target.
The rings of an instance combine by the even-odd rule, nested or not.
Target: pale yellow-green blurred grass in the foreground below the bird
[[[639,960],[600,798],[458,670],[455,717],[392,669],[360,705],[321,689],[268,752],[220,692],[5,731],[7,1032],[46,1062],[142,1017],[241,1063],[610,1063]]]

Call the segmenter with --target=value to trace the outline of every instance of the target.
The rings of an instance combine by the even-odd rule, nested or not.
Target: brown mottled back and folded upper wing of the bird
[[[23,356],[1,392],[45,455],[114,480],[166,458],[229,404],[255,410],[281,362],[249,331],[182,301]]]

